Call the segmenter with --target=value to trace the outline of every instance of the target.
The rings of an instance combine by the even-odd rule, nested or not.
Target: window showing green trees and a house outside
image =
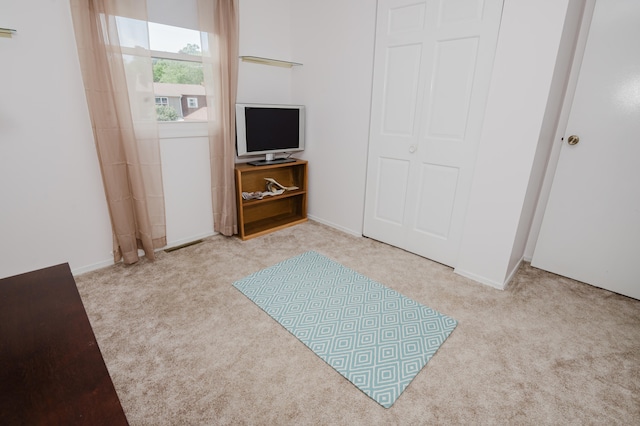
[[[119,17],[118,35],[123,53],[131,57],[130,63],[141,56],[138,50],[140,46],[148,46],[151,52],[158,121],[203,121],[207,105],[201,62],[201,33],[188,28]],[[184,98],[187,99],[186,105],[181,101]],[[193,111],[190,113],[191,108],[198,109],[198,114]]]

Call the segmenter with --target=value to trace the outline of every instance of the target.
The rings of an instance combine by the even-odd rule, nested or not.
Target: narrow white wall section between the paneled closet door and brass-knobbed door
[[[569,0],[505,1],[455,269],[494,287],[507,284],[524,255],[546,164],[541,157],[548,157],[557,124],[545,112],[559,111],[562,94],[556,90],[566,83],[566,69],[555,75],[556,84],[554,73],[568,5]]]

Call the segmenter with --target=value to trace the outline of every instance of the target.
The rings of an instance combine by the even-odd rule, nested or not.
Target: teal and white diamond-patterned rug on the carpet
[[[233,285],[385,408],[457,325],[313,251]]]

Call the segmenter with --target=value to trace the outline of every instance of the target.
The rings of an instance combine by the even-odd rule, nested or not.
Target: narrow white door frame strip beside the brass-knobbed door
[[[582,59],[587,47],[587,38],[589,37],[589,29],[591,28],[591,20],[593,19],[593,11],[595,7],[596,0],[585,1],[584,13],[580,24],[580,30],[578,32],[578,40],[576,42],[573,63],[569,73],[569,80],[567,82],[567,88],[562,102],[562,108],[560,110],[560,116],[558,118],[558,125],[556,127],[553,145],[551,146],[551,153],[549,154],[549,161],[547,162],[547,168],[540,188],[536,211],[529,231],[529,238],[527,240],[524,256],[524,260],[527,262],[531,262],[531,259],[533,258],[533,252],[538,241],[538,236],[540,235],[540,229],[542,228],[542,219],[544,218],[547,203],[549,202],[549,196],[551,195],[553,178],[556,174],[556,169],[558,168],[558,161],[560,160],[560,151],[563,142],[562,138],[567,130],[569,115],[571,114],[571,106],[578,86],[578,77],[580,76],[580,68],[582,66]]]

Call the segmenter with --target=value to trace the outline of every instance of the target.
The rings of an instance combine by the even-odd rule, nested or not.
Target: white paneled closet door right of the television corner
[[[379,0],[364,234],[455,266],[503,0]]]

